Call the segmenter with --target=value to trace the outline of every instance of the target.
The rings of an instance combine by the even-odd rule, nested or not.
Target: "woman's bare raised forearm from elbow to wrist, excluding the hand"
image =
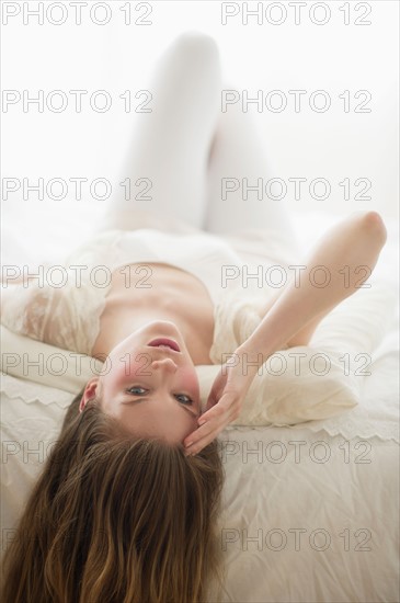
[[[238,349],[243,362],[259,359],[261,366],[277,350],[307,345],[322,318],[372,274],[386,236],[376,212],[357,212],[332,227]]]

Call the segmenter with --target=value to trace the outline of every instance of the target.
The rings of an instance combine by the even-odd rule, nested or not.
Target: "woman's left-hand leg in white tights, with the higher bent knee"
[[[102,228],[203,228],[206,169],[219,109],[220,65],[213,38],[181,35],[162,55],[150,81],[150,113],[136,114],[136,129]],[[147,189],[140,198],[140,191]],[[136,198],[135,198],[136,197]],[[188,226],[186,226],[188,225]]]

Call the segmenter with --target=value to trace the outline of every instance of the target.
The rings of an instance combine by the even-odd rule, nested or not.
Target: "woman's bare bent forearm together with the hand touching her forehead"
[[[386,241],[376,212],[357,212],[332,227],[304,262],[299,278],[283,289],[250,338],[222,366],[199,426],[185,439],[196,454],[240,414],[244,396],[277,350],[307,345],[320,320],[368,278]],[[204,424],[202,424],[204,423]]]

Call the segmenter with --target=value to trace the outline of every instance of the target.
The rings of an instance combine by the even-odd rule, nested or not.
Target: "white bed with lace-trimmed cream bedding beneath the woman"
[[[299,220],[306,241],[329,217],[313,214]],[[367,335],[369,342],[372,362],[366,372],[370,375],[336,375],[341,385],[338,399],[347,384],[346,396],[353,403],[335,417],[290,426],[282,426],[285,421],[276,419],[278,416],[275,424],[231,425],[219,437],[226,470],[219,535],[227,580],[224,592],[213,595],[214,601],[399,601],[398,315],[392,294],[397,289],[398,230],[390,220],[388,229],[374,281],[384,297],[387,292],[387,305],[380,295],[379,307],[367,305],[367,311],[375,308],[375,315],[359,316],[357,326],[357,337]],[[338,325],[344,317],[351,328],[348,321],[354,321],[359,307],[357,298],[344,303],[321,325],[310,350],[322,349],[342,357],[350,348],[345,342],[341,348],[343,333]],[[62,351],[4,328],[1,334],[2,369],[7,368],[1,384],[3,553],[66,408],[90,376],[93,363],[84,359],[81,374],[71,365],[64,371],[52,356]],[[335,349],[333,344],[330,348],[331,335]],[[43,354],[37,355],[43,375],[39,368],[24,372],[22,356],[27,349],[31,359],[33,353]],[[358,348],[358,352],[366,353],[366,349]],[[12,366],[12,359],[20,362],[15,360]],[[344,361],[338,366],[343,366],[344,373]],[[216,369],[198,369],[203,397]],[[287,373],[276,386],[282,399],[292,377]],[[300,378],[292,378],[292,386],[296,385],[298,399],[305,399],[307,406],[308,390],[301,388]],[[321,376],[311,380],[322,389],[327,383]],[[327,395],[327,405],[332,400]],[[264,402],[263,421],[268,423],[271,400],[265,397]]]

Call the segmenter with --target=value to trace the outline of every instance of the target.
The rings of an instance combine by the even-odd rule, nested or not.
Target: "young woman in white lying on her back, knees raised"
[[[113,200],[66,262],[79,284],[4,292],[5,326],[106,367],[72,401],[27,501],[5,556],[5,602],[206,600],[222,579],[216,436],[259,367],[307,345],[385,244],[379,215],[354,213],[274,294],[233,283],[227,274],[274,257],[287,269],[298,250],[284,208],[238,186],[264,177],[265,159],[240,105],[220,110],[213,39],[181,36],[149,90],[123,180],[151,194],[126,198],[124,187]],[[101,285],[100,268],[111,274]],[[213,363],[222,366],[202,413],[195,366]]]

